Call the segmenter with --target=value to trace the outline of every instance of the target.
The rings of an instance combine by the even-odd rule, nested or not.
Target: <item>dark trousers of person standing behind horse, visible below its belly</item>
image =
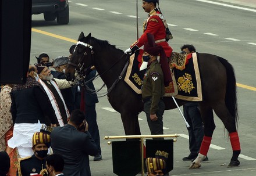
[[[204,127],[198,106],[183,106],[184,117],[189,123],[189,150],[190,155],[197,156],[204,137]]]

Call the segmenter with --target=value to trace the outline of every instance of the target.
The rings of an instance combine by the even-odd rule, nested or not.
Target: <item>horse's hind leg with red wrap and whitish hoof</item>
[[[200,110],[202,121],[204,123],[204,138],[202,139],[201,148],[198,153],[198,156],[190,165],[190,169],[201,167],[201,161],[204,160],[205,157],[207,156],[212,141],[212,134],[214,133],[214,129],[216,127],[214,123],[214,114],[212,108],[209,106],[200,105]]]

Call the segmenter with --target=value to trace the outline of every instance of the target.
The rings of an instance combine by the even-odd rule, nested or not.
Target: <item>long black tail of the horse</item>
[[[226,96],[225,103],[229,113],[235,118],[236,124],[239,119],[237,113],[237,90],[236,90],[236,76],[234,75],[234,69],[232,64],[227,62],[226,59],[218,57],[219,61],[225,66],[227,74],[227,84],[226,84]]]

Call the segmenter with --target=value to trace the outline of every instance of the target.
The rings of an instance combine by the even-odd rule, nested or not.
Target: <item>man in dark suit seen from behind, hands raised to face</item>
[[[65,160],[63,173],[73,176],[91,176],[89,155],[98,153],[85,115],[79,109],[73,110],[64,127],[56,127],[51,132],[51,146]]]

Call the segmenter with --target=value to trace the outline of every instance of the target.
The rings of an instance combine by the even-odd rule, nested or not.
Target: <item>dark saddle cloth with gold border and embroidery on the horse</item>
[[[141,94],[145,69],[140,71],[143,49],[130,56],[125,81],[137,93]],[[201,101],[201,78],[198,69],[197,54],[184,55],[172,53],[169,60],[173,81],[165,88],[165,96],[175,96],[177,99]]]

